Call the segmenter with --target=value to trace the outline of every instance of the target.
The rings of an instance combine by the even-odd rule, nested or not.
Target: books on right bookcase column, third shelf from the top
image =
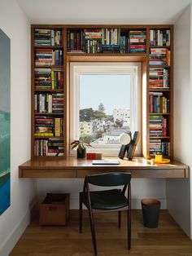
[[[169,88],[170,76],[168,68],[150,68],[150,88]]]

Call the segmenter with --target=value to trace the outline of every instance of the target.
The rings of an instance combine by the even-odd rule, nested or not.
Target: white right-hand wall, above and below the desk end
[[[192,166],[191,157],[191,20],[190,6],[175,24],[174,37],[174,156]],[[191,236],[190,183],[191,179],[167,181],[168,210],[185,233]]]

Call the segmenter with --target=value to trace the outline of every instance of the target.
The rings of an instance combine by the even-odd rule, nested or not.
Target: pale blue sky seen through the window
[[[130,76],[81,75],[80,109],[98,110],[100,103],[108,115],[112,115],[115,108],[130,109]]]

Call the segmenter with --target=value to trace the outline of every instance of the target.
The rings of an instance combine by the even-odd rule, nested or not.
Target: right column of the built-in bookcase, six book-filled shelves
[[[172,26],[149,29],[149,157],[162,154],[173,157],[172,152]]]

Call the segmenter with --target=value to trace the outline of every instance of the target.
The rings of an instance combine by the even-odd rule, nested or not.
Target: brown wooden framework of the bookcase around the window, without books
[[[63,49],[63,93],[64,93],[64,111],[63,111],[63,144],[64,144],[64,156],[58,158],[66,159],[69,155],[69,66],[70,62],[141,62],[142,63],[142,155],[147,159],[150,158],[150,136],[149,136],[149,54],[150,54],[150,29],[170,29],[171,31],[171,65],[170,65],[170,88],[168,91],[170,99],[170,113],[169,119],[169,142],[170,142],[170,158],[173,158],[173,25],[170,24],[32,24],[31,26],[31,102],[32,102],[32,122],[31,122],[31,157],[40,159],[55,159],[55,157],[35,157],[34,156],[34,50],[35,47],[41,48],[41,46],[34,46],[34,29],[63,29],[63,46],[44,46],[44,48]],[[123,33],[128,33],[130,29],[146,29],[146,53],[126,53],[126,54],[111,54],[111,53],[70,53],[67,52],[67,31],[81,30],[81,29],[121,29]],[[162,46],[164,47],[164,46]],[[43,48],[43,47],[42,47]],[[58,67],[58,66],[57,66]],[[56,90],[55,90],[56,91]],[[151,90],[152,91],[152,90]],[[162,91],[159,89],[159,91]]]

